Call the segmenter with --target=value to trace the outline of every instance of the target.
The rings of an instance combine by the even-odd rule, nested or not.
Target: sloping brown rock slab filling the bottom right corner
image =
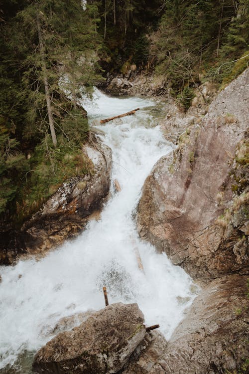
[[[198,296],[167,346],[155,335],[125,374],[248,373],[245,276],[212,281]]]

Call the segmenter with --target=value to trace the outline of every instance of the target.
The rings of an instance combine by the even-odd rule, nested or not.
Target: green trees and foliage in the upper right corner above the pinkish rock
[[[248,10],[248,0],[165,2],[149,58],[156,59],[156,72],[166,76],[176,96],[189,83],[198,86],[200,73],[202,81],[225,84],[246,68],[246,58],[236,66],[231,61],[246,55]]]

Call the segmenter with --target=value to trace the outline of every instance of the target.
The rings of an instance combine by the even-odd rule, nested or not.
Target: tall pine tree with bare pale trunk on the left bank
[[[92,13],[88,8],[84,11],[78,0],[40,0],[18,13],[20,23],[25,31],[19,48],[26,45],[27,49],[22,63],[23,86],[25,91],[29,88],[26,94],[32,103],[27,122],[30,127],[36,123],[44,134],[49,122],[56,147],[55,131],[68,138],[63,118],[75,115],[80,87],[91,87],[98,78],[94,58],[86,57],[98,49]],[[96,57],[96,53],[92,54]],[[63,77],[73,105],[63,92]]]

